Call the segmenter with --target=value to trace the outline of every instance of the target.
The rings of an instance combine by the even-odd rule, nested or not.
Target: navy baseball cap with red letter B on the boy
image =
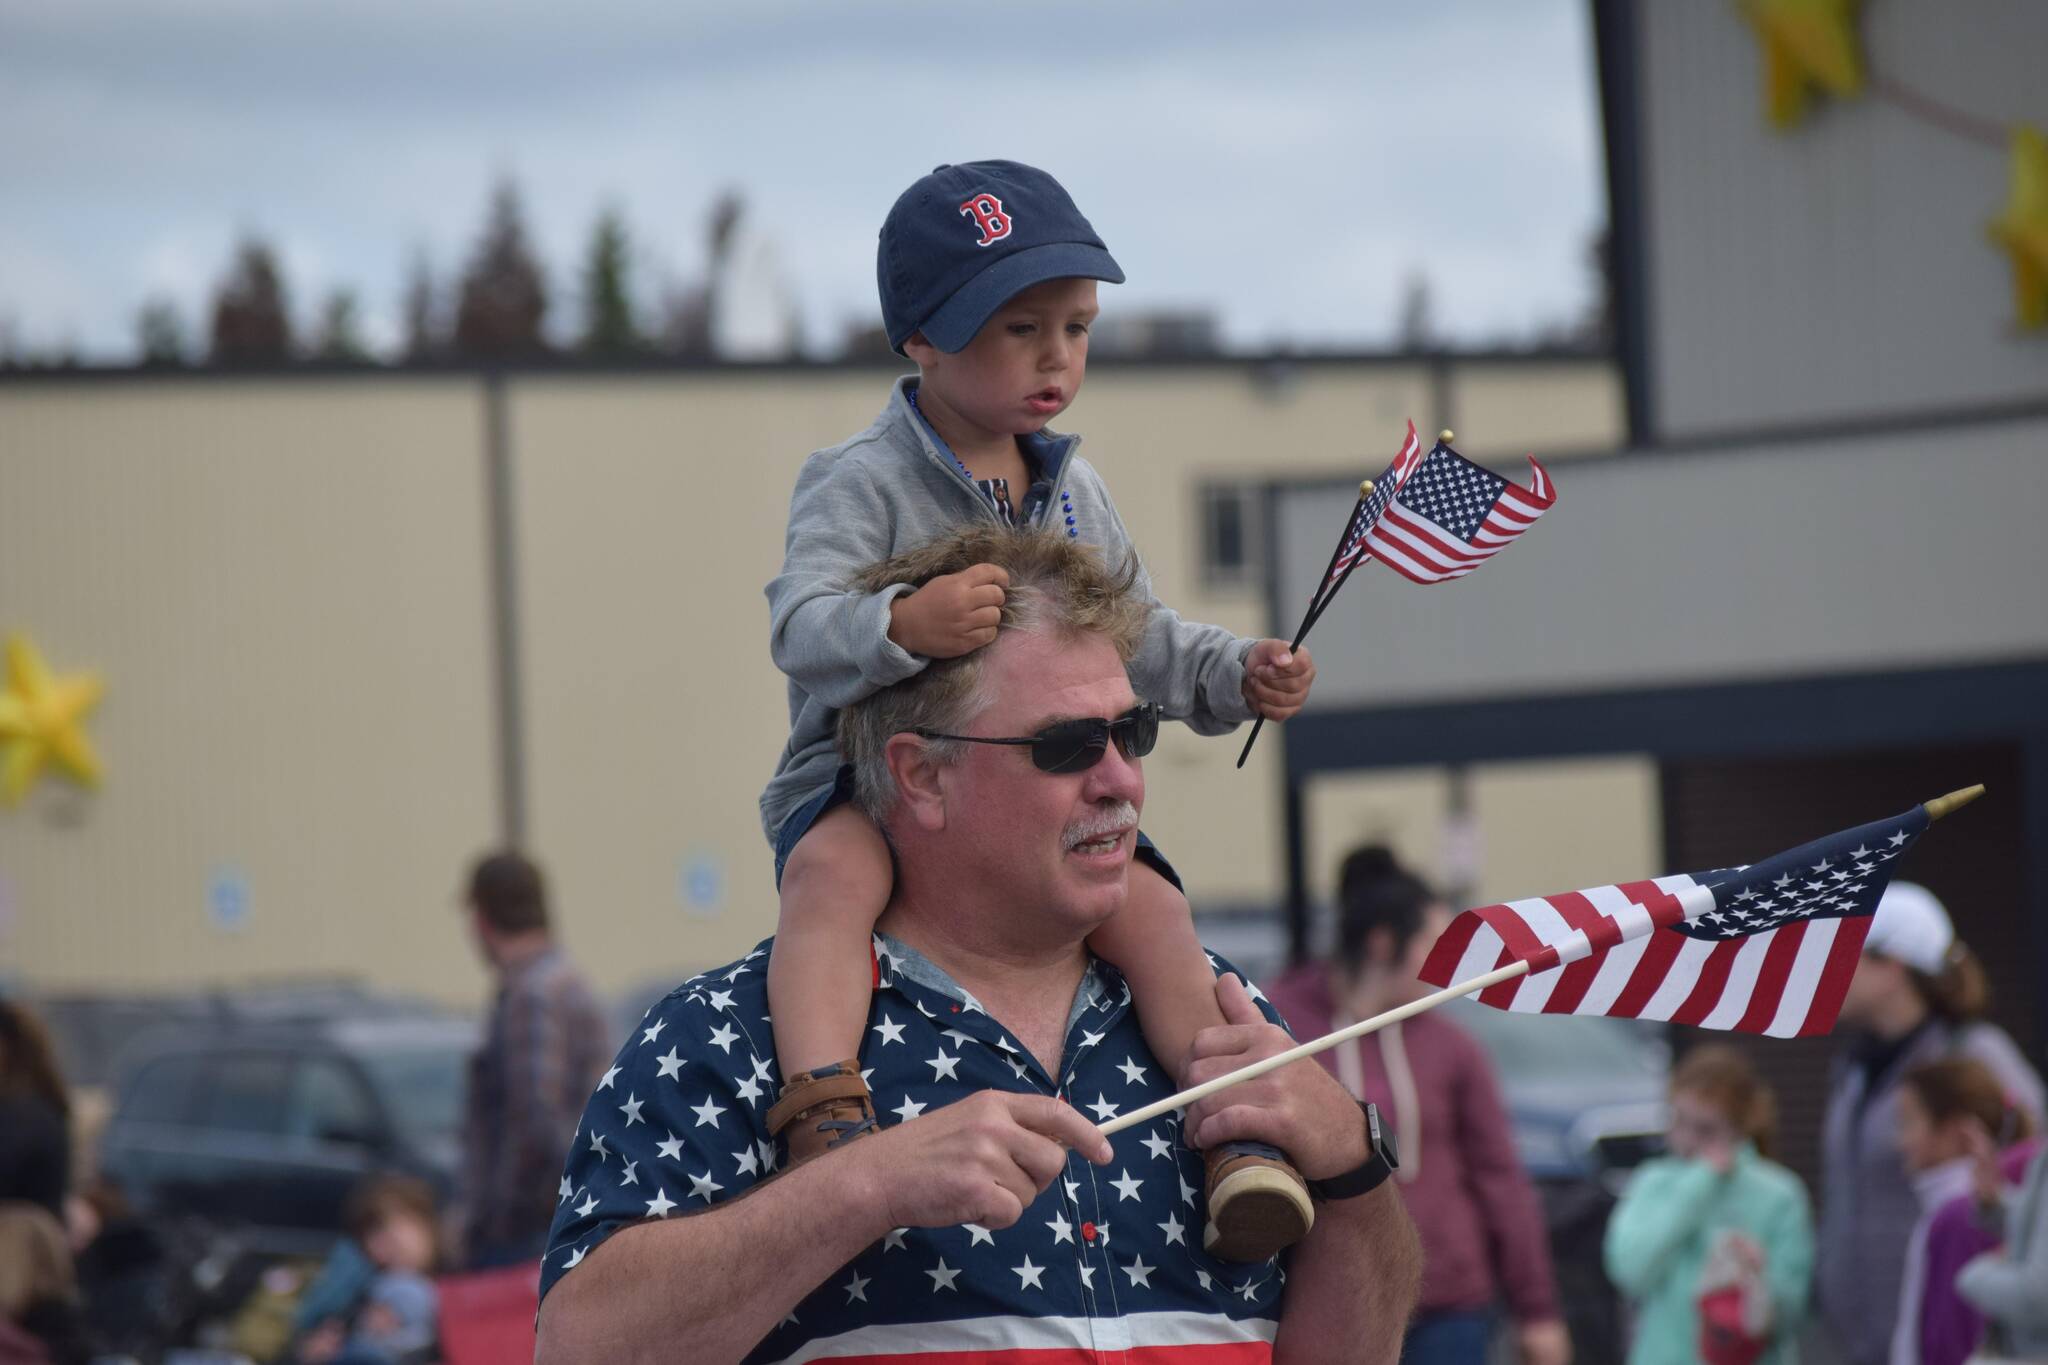
[[[911,332],[944,352],[1018,293],[1059,278],[1124,282],[1059,180],[1018,162],[938,166],[883,219],[874,274],[897,354]]]

